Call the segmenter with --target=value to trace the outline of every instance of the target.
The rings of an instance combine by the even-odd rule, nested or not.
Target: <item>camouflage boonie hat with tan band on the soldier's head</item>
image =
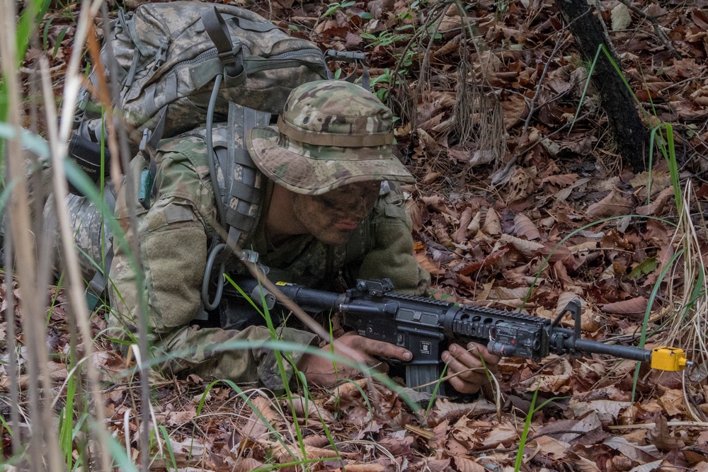
[[[379,99],[345,81],[295,88],[278,127],[246,136],[253,162],[293,192],[321,195],[350,183],[415,178],[392,154],[393,114]]]

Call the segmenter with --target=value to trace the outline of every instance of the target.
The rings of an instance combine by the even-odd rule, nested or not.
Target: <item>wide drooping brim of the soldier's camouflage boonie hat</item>
[[[287,190],[304,195],[321,195],[358,182],[416,181],[395,156],[388,159],[362,159],[362,154],[366,154],[369,148],[356,148],[356,152],[340,148],[340,153],[333,153],[330,147],[322,153],[336,154],[337,159],[314,159],[304,155],[307,153],[299,154],[285,149],[278,144],[278,130],[275,127],[251,129],[246,133],[246,146],[253,162],[270,180]],[[372,148],[372,154],[378,155],[376,149]]]

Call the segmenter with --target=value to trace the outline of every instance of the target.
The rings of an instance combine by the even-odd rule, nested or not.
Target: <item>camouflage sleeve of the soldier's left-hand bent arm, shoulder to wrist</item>
[[[283,378],[273,350],[263,346],[271,339],[267,329],[251,326],[236,331],[190,326],[201,309],[200,287],[215,219],[214,193],[200,139],[182,138],[160,149],[156,156],[157,195],[150,209],[145,210],[137,201],[127,202],[125,192],[118,197],[116,210],[123,228],[130,226],[128,205],[137,212],[144,287],[137,287],[135,267],[125,246],[116,244],[110,271],[110,325],[118,328],[115,333],[135,332],[135,313],[142,292],[147,294],[152,350],[164,361],[160,364],[164,372],[193,372],[209,380],[229,379],[239,384],[282,388]],[[143,163],[141,156],[131,163],[135,185]],[[292,328],[282,328],[278,335],[302,345],[315,339],[312,333]],[[248,341],[249,347],[217,348],[229,340]],[[289,362],[285,362],[285,381],[292,379],[292,365],[297,365],[301,356],[302,352],[286,356]]]

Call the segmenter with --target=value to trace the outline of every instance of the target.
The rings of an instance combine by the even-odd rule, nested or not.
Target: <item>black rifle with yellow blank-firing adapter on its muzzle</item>
[[[581,304],[571,301],[554,321],[523,313],[466,306],[424,297],[393,292],[390,280],[359,280],[353,289],[337,294],[310,289],[303,285],[278,282],[278,288],[304,311],[338,311],[342,324],[365,338],[385,341],[406,348],[413,359],[405,362],[406,385],[428,385],[431,393],[445,364],[440,354],[450,343],[486,344],[499,356],[542,359],[550,353],[571,356],[605,354],[622,359],[650,362],[653,369],[678,371],[692,364],[685,352],[675,347],[639,347],[608,345],[581,338]],[[268,309],[275,307],[275,297],[265,292],[256,280],[239,281],[239,287]],[[574,330],[561,328],[559,322],[570,312]],[[243,313],[241,311],[241,313]],[[224,328],[239,327],[239,310],[220,312]],[[440,390],[438,390],[440,393]]]

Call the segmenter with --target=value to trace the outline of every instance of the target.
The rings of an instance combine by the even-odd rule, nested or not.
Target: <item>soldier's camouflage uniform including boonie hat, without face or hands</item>
[[[358,86],[320,81],[295,89],[278,129],[253,129],[247,140],[253,161],[270,179],[263,208],[268,208],[276,184],[293,192],[319,195],[361,181],[411,182],[412,176],[391,154],[391,126],[390,110]],[[166,139],[155,161],[158,193],[152,207],[146,211],[119,195],[116,214],[123,227],[127,227],[127,205],[135,207],[138,214],[154,349],[169,353],[194,347],[189,355],[171,359],[163,367],[173,373],[195,372],[205,379],[282,388],[273,352],[258,345],[258,341],[270,340],[266,328],[251,326],[236,331],[190,326],[202,310],[200,287],[217,214],[205,143],[195,136]],[[142,157],[132,162],[136,183],[143,166]],[[329,289],[341,272],[350,280],[389,277],[397,291],[422,294],[428,288],[429,275],[413,256],[411,224],[401,192],[388,183],[382,188],[389,191],[382,192],[371,214],[346,244],[332,246],[301,235],[273,247],[262,217],[244,247],[259,253],[261,263],[270,267],[271,280]],[[229,272],[238,275],[244,267],[236,263]],[[115,248],[110,275],[110,303],[117,311],[113,323],[135,326],[130,318],[138,300],[135,271],[119,247]],[[281,327],[279,333],[282,340],[302,345],[315,340],[312,333],[293,328]],[[254,347],[213,351],[224,340],[234,339],[249,340]],[[301,353],[293,352],[290,361],[297,364],[300,357]]]

